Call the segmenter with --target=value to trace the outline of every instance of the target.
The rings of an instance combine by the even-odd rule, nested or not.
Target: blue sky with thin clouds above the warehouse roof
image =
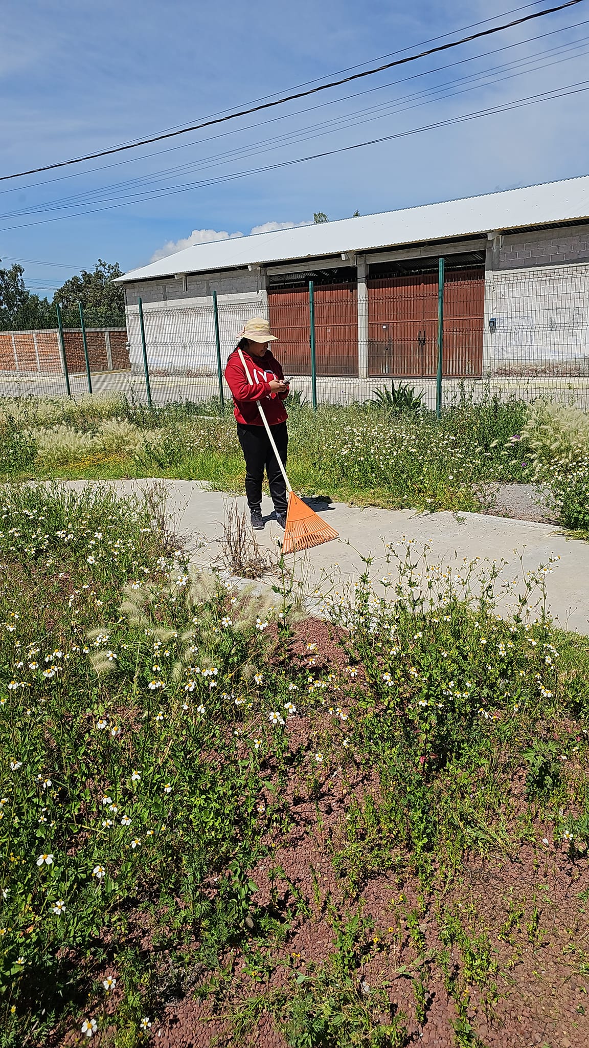
[[[419,49],[442,34],[460,36],[479,20],[498,19],[480,28],[509,21],[518,15],[499,16],[520,5],[4,0],[0,174],[197,123],[392,51]],[[551,4],[518,14],[544,6]],[[23,261],[28,285],[50,296],[99,257],[130,269],[174,245],[309,221],[314,211],[336,219],[356,209],[368,214],[586,174],[581,92],[187,189],[568,87],[588,79],[588,51],[583,2],[269,112],[0,182],[2,264]],[[150,199],[138,198],[147,193]]]

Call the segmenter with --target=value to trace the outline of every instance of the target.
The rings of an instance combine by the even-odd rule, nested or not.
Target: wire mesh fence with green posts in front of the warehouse
[[[488,391],[589,410],[589,264],[486,270],[446,260],[442,405]],[[0,332],[0,395],[125,394],[153,403],[231,400],[222,372],[245,322],[265,315],[291,390],[317,403],[363,402],[407,384],[432,408],[438,366],[437,259],[270,279],[263,296],[198,305],[150,302],[127,330]],[[217,320],[217,323],[216,323]],[[67,375],[66,375],[67,371]]]

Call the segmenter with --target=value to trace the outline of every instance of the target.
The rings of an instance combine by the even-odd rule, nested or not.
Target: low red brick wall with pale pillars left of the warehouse
[[[125,328],[89,328],[86,331],[90,371],[128,371],[129,351]],[[70,374],[86,371],[82,331],[65,330],[64,345]],[[0,331],[0,372],[61,374],[57,329]]]

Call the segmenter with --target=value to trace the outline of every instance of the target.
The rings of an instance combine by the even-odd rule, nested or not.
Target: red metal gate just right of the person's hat
[[[315,284],[318,375],[357,375],[357,287],[355,283]],[[309,289],[268,288],[276,352],[286,374],[311,372]]]

